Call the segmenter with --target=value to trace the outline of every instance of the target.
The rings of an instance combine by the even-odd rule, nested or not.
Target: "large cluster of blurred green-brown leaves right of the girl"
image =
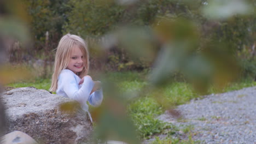
[[[160,20],[155,29],[163,43],[149,76],[155,86],[171,83],[176,71],[203,93],[210,85],[223,88],[236,77],[238,67],[228,41],[200,43],[194,23],[181,19]]]

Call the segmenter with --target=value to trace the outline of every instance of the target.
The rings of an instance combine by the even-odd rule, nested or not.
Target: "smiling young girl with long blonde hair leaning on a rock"
[[[98,106],[103,94],[100,82],[92,81],[88,70],[89,52],[85,41],[77,35],[64,35],[57,47],[50,91],[77,100],[91,119],[86,102]]]

